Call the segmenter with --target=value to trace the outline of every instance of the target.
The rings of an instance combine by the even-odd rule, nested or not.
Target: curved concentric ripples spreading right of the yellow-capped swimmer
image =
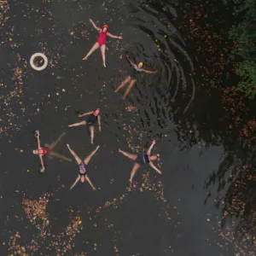
[[[143,133],[163,136],[172,130],[174,114],[185,113],[194,100],[194,65],[175,26],[176,2],[132,3],[130,8],[127,23],[133,31],[125,50],[134,62],[158,73],[143,74],[131,90],[128,100],[138,115],[128,115],[127,122],[138,121]]]

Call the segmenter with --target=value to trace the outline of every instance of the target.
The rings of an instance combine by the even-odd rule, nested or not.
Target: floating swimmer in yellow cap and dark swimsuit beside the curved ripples
[[[125,97],[127,96],[127,94],[129,93],[129,91],[131,90],[132,86],[136,83],[137,81],[137,77],[139,75],[141,75],[142,72],[144,73],[157,73],[156,71],[149,71],[146,69],[143,69],[143,62],[140,62],[138,65],[134,64],[129,55],[126,55],[127,60],[131,63],[132,70],[131,70],[131,75],[128,76],[123,82],[122,84],[119,85],[119,87],[117,88],[117,90],[115,90],[114,92],[118,92],[121,88],[123,88],[125,86],[125,84],[127,84],[128,82],[130,82],[130,84],[128,85],[127,90],[125,91],[125,94],[123,96],[123,100],[125,99]]]

